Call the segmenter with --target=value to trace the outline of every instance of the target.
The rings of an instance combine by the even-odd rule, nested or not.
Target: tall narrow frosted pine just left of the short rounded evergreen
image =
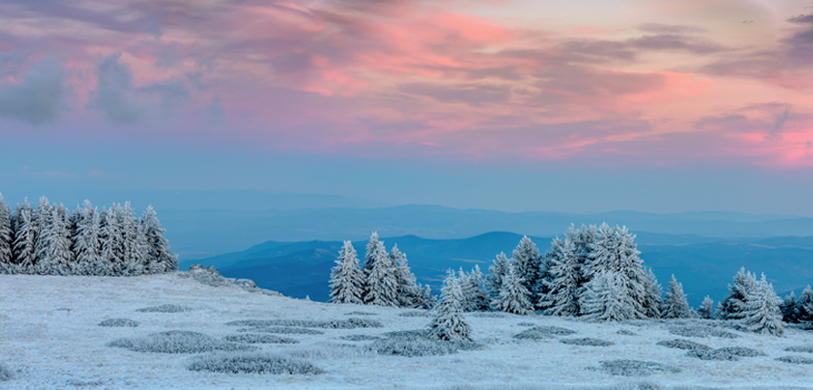
[[[546,310],[548,314],[576,316],[580,312],[581,264],[572,238],[574,235],[568,234],[564,242],[556,238],[551,243],[551,251],[558,251],[557,247],[559,247],[561,254],[551,257],[554,262],[550,267],[552,280],[548,284],[548,294],[538,305],[548,308]],[[561,244],[557,244],[557,241]]]

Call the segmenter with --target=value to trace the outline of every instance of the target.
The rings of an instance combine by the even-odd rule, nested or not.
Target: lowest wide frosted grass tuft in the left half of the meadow
[[[224,373],[320,374],[325,372],[305,360],[265,352],[218,352],[196,357],[187,368],[192,371]]]

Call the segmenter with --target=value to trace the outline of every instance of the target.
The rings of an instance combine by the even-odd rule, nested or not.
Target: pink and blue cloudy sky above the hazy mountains
[[[68,189],[813,216],[813,1],[2,1],[0,193]]]

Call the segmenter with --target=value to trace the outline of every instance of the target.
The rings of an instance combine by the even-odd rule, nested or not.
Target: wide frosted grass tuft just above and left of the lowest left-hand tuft
[[[256,347],[217,340],[210,335],[189,331],[153,333],[144,338],[125,338],[111,341],[107,347],[126,348],[135,352],[200,353],[212,351],[253,351]]]

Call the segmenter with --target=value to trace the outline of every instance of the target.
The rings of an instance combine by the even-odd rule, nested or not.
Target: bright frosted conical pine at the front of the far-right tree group
[[[750,331],[773,335],[785,332],[780,312],[782,300],[774,292],[773,285],[765,280],[765,274],[762,274],[756,289],[751,290],[745,302],[743,321]]]

